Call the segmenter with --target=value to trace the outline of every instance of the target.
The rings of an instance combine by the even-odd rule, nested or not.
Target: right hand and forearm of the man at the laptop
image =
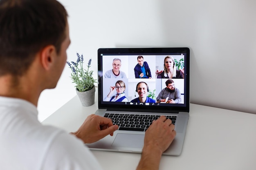
[[[175,126],[165,116],[150,125],[144,138],[141,159],[137,170],[158,170],[162,153],[176,136]]]

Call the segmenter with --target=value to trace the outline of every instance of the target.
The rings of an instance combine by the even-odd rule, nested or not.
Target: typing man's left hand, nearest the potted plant
[[[118,126],[113,125],[111,119],[98,115],[90,115],[85,119],[82,126],[72,134],[82,139],[85,144],[90,144],[107,135],[113,136],[113,132],[117,129]]]

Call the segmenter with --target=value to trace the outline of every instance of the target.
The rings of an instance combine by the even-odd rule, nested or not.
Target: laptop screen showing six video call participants
[[[189,111],[189,48],[98,50],[98,105],[108,110]]]

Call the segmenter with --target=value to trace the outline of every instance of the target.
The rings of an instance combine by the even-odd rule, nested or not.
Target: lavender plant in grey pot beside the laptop
[[[68,62],[67,65],[71,69],[71,79],[72,83],[75,83],[76,93],[83,106],[91,106],[94,104],[95,98],[95,86],[97,79],[92,77],[93,71],[89,71],[92,59],[89,60],[87,69],[83,68],[83,54],[80,56],[76,53],[76,62]]]

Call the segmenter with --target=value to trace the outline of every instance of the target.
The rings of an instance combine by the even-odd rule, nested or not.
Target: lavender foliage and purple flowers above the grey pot
[[[71,79],[72,83],[76,84],[76,89],[78,91],[89,91],[94,87],[94,83],[97,82],[97,79],[92,77],[93,71],[89,71],[91,66],[92,59],[89,60],[87,69],[83,68],[83,54],[80,56],[79,53],[76,53],[77,60],[76,62],[67,61],[67,65],[72,70]]]

